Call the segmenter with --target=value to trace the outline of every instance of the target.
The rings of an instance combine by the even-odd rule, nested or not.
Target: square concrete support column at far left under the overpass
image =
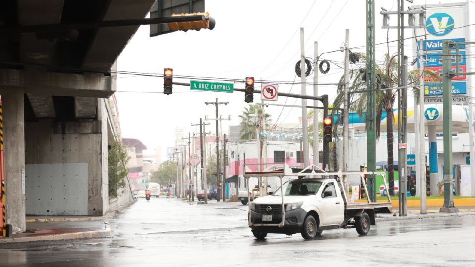
[[[2,92],[3,140],[7,223],[26,230],[25,222],[25,120],[23,92]]]

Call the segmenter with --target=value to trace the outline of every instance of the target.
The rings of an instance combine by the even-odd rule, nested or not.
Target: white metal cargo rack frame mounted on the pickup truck
[[[258,164],[247,164],[247,165],[258,165]],[[386,183],[386,173],[377,173],[377,172],[343,172],[339,170],[338,172],[327,172],[319,168],[315,165],[310,165],[303,170],[294,173],[292,168],[290,168],[286,163],[283,164],[283,168],[280,170],[272,170],[272,171],[262,171],[262,172],[246,172],[246,164],[244,164],[244,178],[247,180],[247,221],[249,227],[252,226],[278,226],[279,228],[284,227],[285,224],[285,205],[284,205],[284,192],[282,190],[282,178],[285,176],[294,176],[294,177],[307,177],[307,178],[322,178],[322,179],[329,179],[330,177],[335,177],[336,182],[339,183],[340,192],[343,195],[343,201],[345,203],[345,210],[358,210],[358,209],[390,209],[391,207],[391,197],[387,194],[387,202],[371,202],[370,198],[368,197],[368,188],[366,186],[365,175],[381,175],[383,177],[384,186],[387,187]],[[341,178],[347,175],[359,175],[361,179],[361,183],[363,184],[363,189],[366,193],[366,200],[367,203],[349,203],[348,202],[348,195],[346,190],[344,189],[345,186],[343,185],[343,181]],[[251,199],[250,199],[250,191],[249,191],[249,178],[251,177],[279,177],[280,179],[280,190],[281,190],[281,215],[282,221],[278,224],[276,223],[259,223],[254,224],[251,222]]]

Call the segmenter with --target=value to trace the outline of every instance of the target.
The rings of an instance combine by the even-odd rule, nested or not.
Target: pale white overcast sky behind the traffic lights
[[[300,94],[300,81],[295,74],[295,64],[300,60],[300,27],[304,28],[305,56],[314,57],[314,42],[318,42],[320,58],[332,60],[327,74],[318,73],[319,95],[328,94],[330,102],[336,96],[336,83],[343,75],[344,53],[339,51],[345,41],[345,29],[349,29],[349,47],[352,52],[366,53],[365,0],[206,0],[206,11],[216,20],[213,30],[178,31],[157,37],[149,37],[149,26],[143,25],[131,38],[118,58],[117,70],[139,73],[163,74],[164,68],[173,68],[174,75],[233,79],[234,87],[244,88],[247,76],[256,81],[281,81],[279,92]],[[463,2],[462,0],[414,0],[415,5]],[[412,5],[405,1],[405,7]],[[382,29],[381,7],[396,11],[397,0],[376,1],[376,60],[384,53],[397,52],[397,30]],[[475,0],[469,1],[475,8]],[[470,21],[469,23],[473,23]],[[397,25],[391,17],[391,25]],[[475,26],[470,28],[474,36]],[[405,36],[412,35],[405,30]],[[405,43],[409,61],[413,59],[413,43]],[[355,65],[351,66],[356,68]],[[313,82],[314,74],[307,77]],[[194,80],[200,80],[195,78]],[[203,79],[201,79],[203,80]],[[189,79],[174,78],[174,82],[189,82]],[[256,83],[255,88],[261,85]],[[120,112],[122,137],[137,138],[154,154],[155,147],[175,144],[175,128],[184,129],[188,135],[199,132],[191,124],[200,118],[215,118],[213,102],[229,102],[219,106],[223,118],[222,129],[238,125],[244,107],[244,93],[220,93],[190,91],[186,86],[173,86],[172,95],[164,95],[162,77],[119,74],[115,93]],[[313,85],[306,85],[306,92],[313,95]],[[411,97],[411,96],[409,96]],[[260,96],[254,96],[254,103]],[[313,101],[308,101],[311,105]],[[408,101],[411,105],[412,101]],[[301,105],[300,99],[279,97],[279,104]],[[266,107],[272,123],[295,123],[302,116],[300,108]],[[277,120],[278,119],[278,120]],[[276,122],[277,121],[277,122]],[[207,130],[215,132],[214,121]],[[147,154],[147,151],[145,152]],[[162,160],[165,160],[163,158]]]

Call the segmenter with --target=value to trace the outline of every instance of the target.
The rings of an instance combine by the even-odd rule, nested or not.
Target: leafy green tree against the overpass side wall
[[[124,178],[127,176],[127,161],[129,157],[125,147],[116,140],[109,141],[109,197],[117,197],[117,190],[125,187]]]

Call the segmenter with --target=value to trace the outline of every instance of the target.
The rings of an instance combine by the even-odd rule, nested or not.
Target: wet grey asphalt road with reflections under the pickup
[[[257,241],[240,203],[139,199],[110,223],[112,239],[10,244],[0,266],[475,266],[475,217],[377,222],[368,236],[324,231],[315,240]]]

